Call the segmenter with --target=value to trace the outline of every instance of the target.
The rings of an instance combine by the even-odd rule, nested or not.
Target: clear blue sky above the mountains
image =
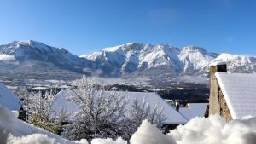
[[[256,1],[0,0],[0,43],[27,39],[75,55],[130,42],[256,55]]]

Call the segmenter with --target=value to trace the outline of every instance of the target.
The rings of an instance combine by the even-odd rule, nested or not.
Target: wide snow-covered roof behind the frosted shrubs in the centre
[[[54,102],[55,112],[61,112],[61,108],[64,108],[69,115],[69,119],[72,119],[76,112],[79,112],[79,107],[73,102],[68,101],[69,95],[72,92],[69,90],[61,90],[57,95]],[[119,92],[124,93],[124,92]],[[159,95],[155,93],[148,92],[125,92],[128,96],[128,104],[125,109],[129,111],[131,109],[133,101],[136,99],[141,104],[143,100],[148,103],[148,105],[153,108],[156,104],[163,107],[163,114],[166,116],[165,124],[186,124],[187,119],[184,118],[179,112],[177,112],[172,106],[170,106],[166,101],[164,101]]]

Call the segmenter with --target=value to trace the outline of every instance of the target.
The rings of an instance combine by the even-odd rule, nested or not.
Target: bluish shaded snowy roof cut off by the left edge
[[[20,110],[20,99],[2,83],[0,83],[0,105],[9,110]]]

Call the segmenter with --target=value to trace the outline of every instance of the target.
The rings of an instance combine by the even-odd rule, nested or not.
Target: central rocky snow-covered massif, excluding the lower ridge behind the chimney
[[[123,75],[131,72],[157,70],[161,67],[166,72],[177,75],[180,72],[203,72],[204,66],[217,54],[208,53],[195,46],[179,49],[169,44],[126,43],[116,47],[102,49],[91,55],[81,55],[96,63],[96,68],[107,74]],[[195,64],[195,62],[197,62]]]

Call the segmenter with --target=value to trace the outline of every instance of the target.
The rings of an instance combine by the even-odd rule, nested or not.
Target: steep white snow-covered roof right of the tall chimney
[[[233,119],[256,116],[256,74],[216,72]]]

